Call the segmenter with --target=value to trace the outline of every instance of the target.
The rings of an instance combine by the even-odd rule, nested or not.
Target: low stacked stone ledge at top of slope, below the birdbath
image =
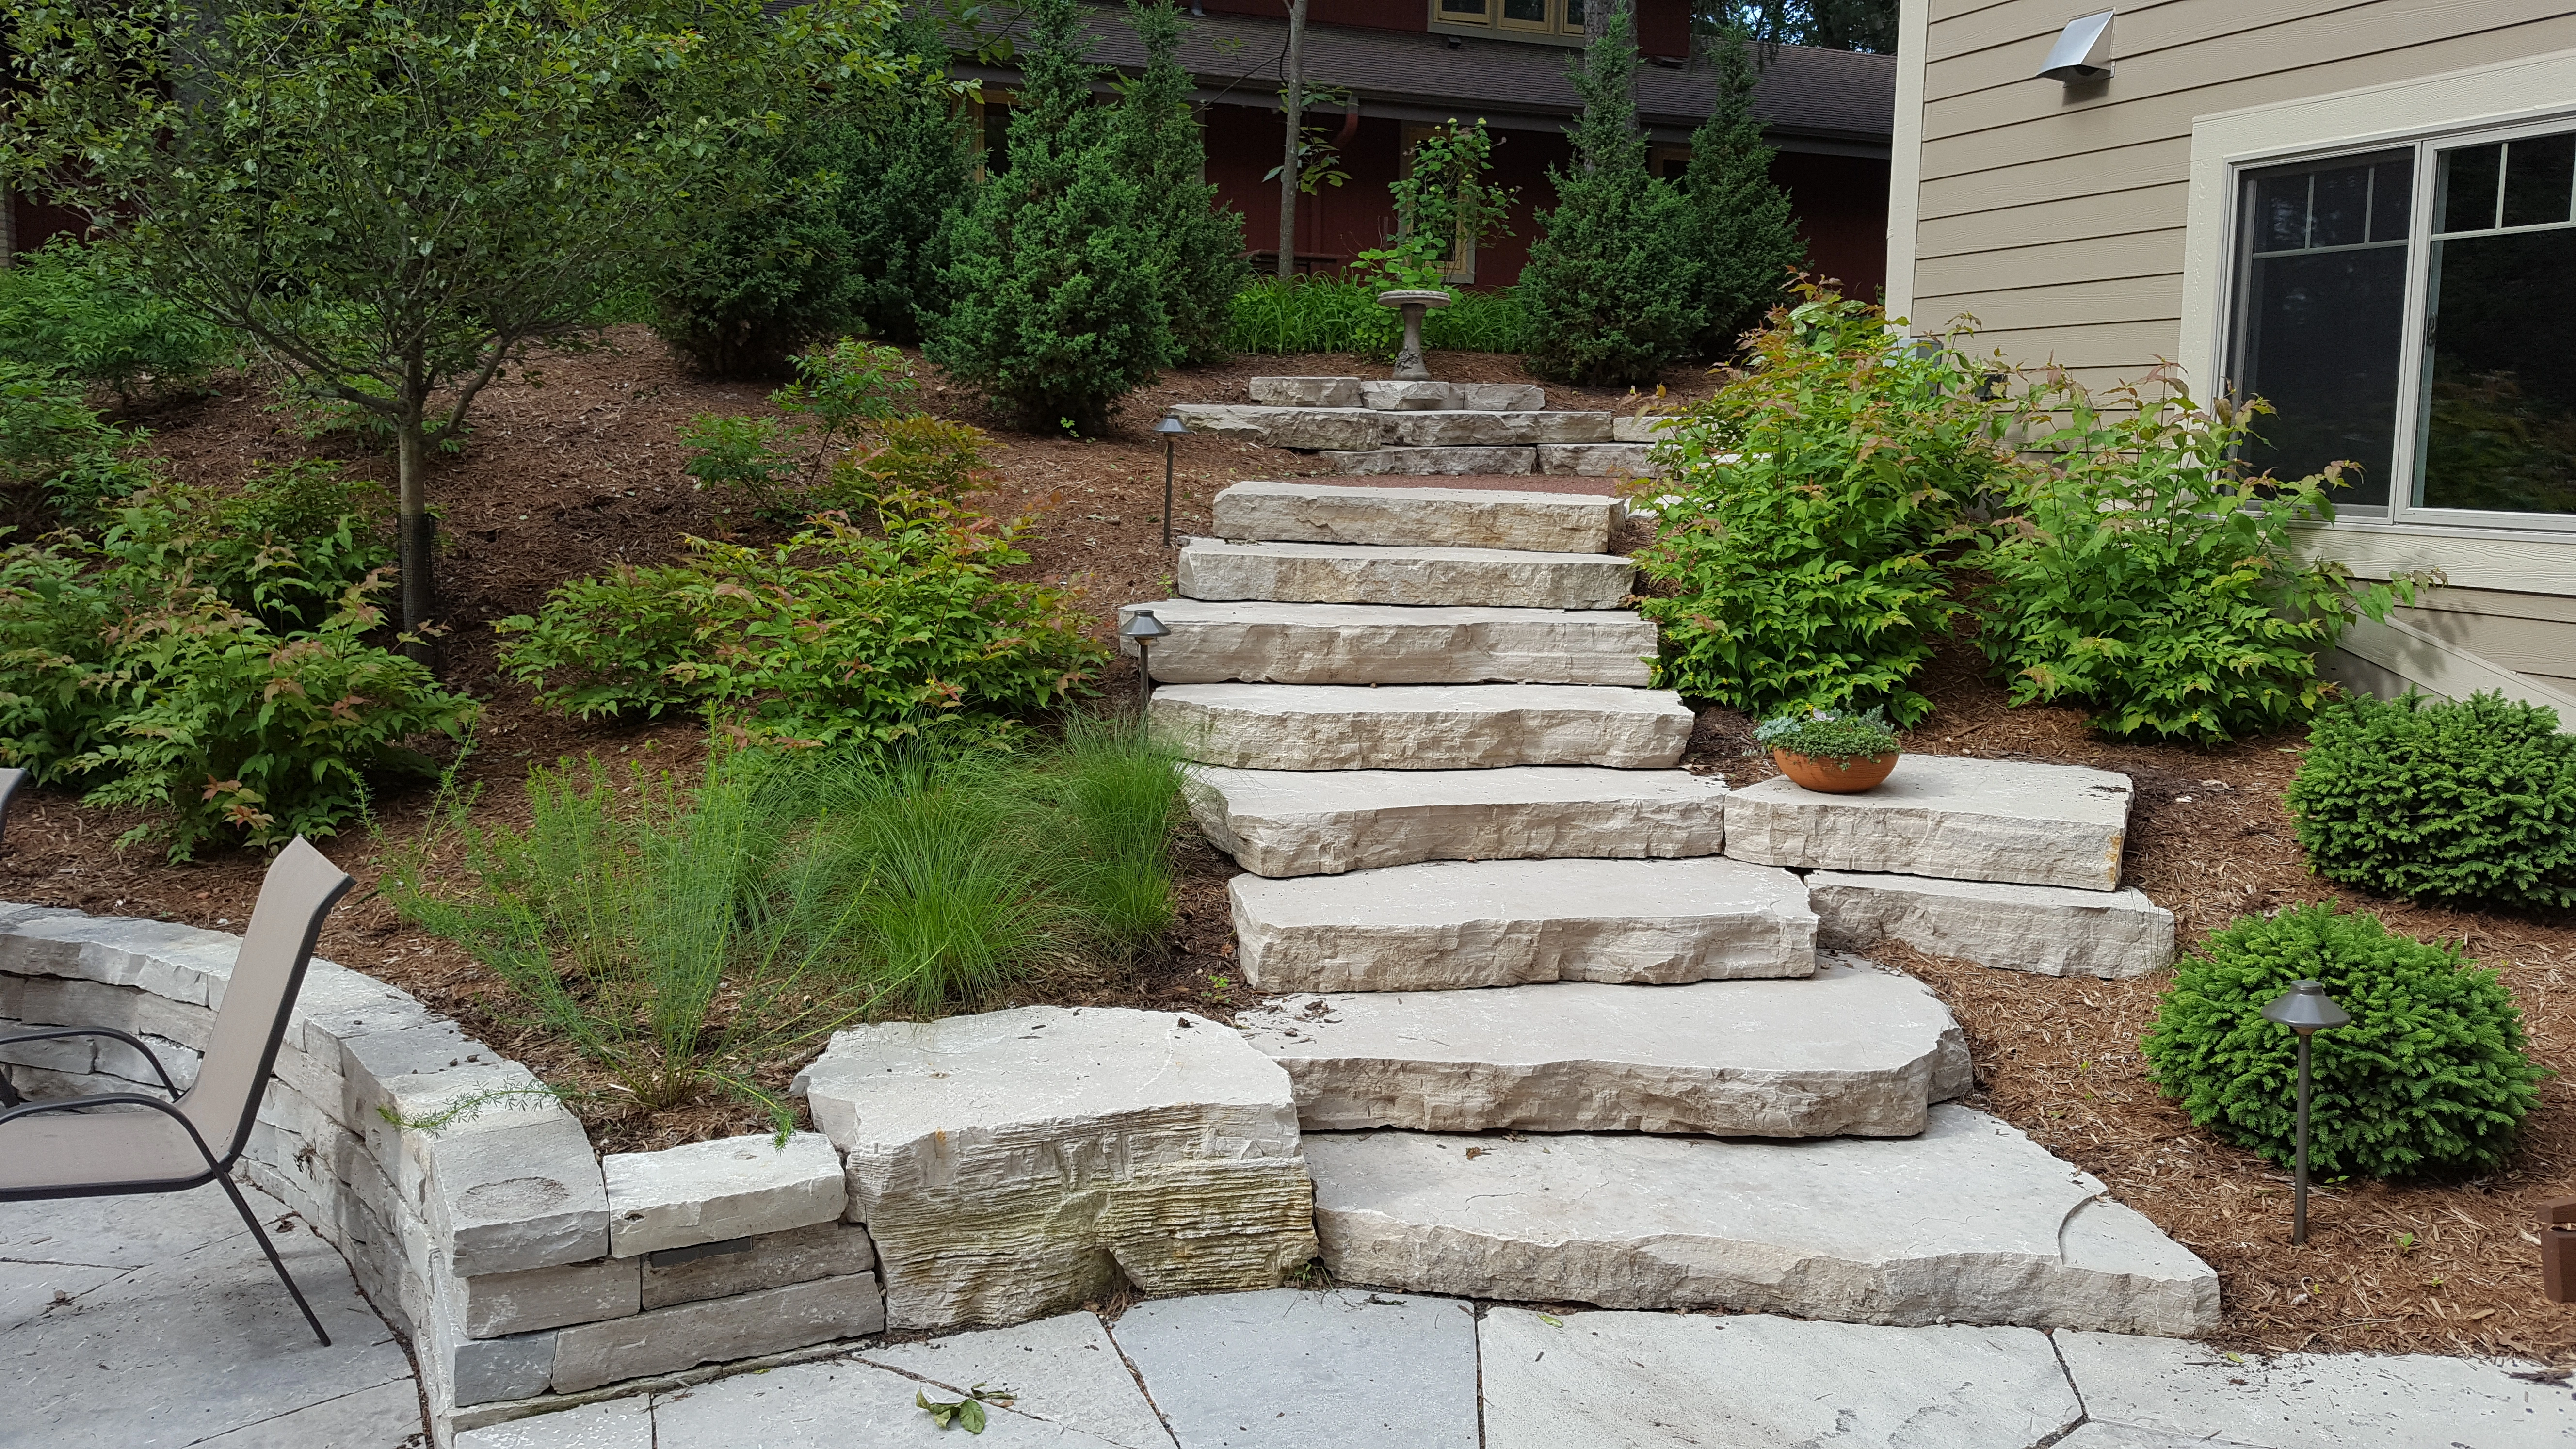
[[[1551,413],[1546,392],[1525,382],[1255,376],[1249,405],[1190,402],[1175,415],[1193,433],[1319,454],[1332,472],[1350,477],[1651,472],[1651,420]]]

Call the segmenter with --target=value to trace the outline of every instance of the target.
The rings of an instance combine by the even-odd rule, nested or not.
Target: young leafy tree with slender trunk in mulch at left
[[[889,0],[0,0],[0,170],[180,302],[394,431],[402,627],[435,624],[428,454],[590,327],[670,199],[788,85],[881,85]]]

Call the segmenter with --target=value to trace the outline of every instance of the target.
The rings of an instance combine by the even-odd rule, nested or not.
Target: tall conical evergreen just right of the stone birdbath
[[[1556,209],[1540,217],[1546,235],[1520,273],[1530,366],[1556,382],[1649,384],[1708,325],[1705,297],[1685,281],[1700,268],[1667,250],[1687,209],[1646,168],[1633,77],[1636,18],[1618,5],[1574,70],[1584,98],[1574,170],[1548,173]]]

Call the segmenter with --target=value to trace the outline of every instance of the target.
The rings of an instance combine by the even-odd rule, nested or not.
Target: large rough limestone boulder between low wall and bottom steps
[[[1311,1256],[1288,1073],[1211,1021],[1043,1006],[858,1026],[804,1085],[899,1328],[1020,1323],[1121,1279],[1275,1287]]]

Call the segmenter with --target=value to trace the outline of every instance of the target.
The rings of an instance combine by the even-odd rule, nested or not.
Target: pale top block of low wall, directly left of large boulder
[[[822,1132],[781,1147],[768,1134],[611,1152],[608,1250],[618,1258],[832,1222],[848,1201],[840,1155]]]

